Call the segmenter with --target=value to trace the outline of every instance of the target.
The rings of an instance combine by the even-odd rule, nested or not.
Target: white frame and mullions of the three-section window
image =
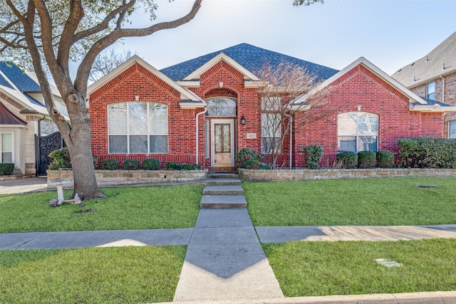
[[[111,105],[118,105],[118,104],[121,104],[121,103],[125,103],[126,104],[126,108],[127,108],[127,124],[126,124],[126,130],[125,130],[125,133],[115,133],[115,134],[111,134],[110,133],[110,130],[109,130],[109,126],[110,126],[110,106]],[[108,105],[108,109],[107,109],[107,113],[108,113],[108,153],[109,154],[168,154],[169,151],[170,151],[170,132],[169,132],[169,112],[167,112],[167,134],[166,134],[166,137],[167,137],[167,149],[166,149],[166,152],[151,152],[150,151],[150,136],[152,135],[157,135],[155,133],[152,133],[152,125],[150,124],[150,113],[151,113],[151,108],[153,105],[157,104],[157,105],[163,105],[166,107],[167,111],[169,111],[169,107],[168,105],[165,105],[163,103],[152,103],[152,102],[142,102],[142,101],[126,101],[126,102],[121,102],[121,103],[110,103]],[[135,135],[138,135],[138,134],[131,134],[130,135],[130,110],[129,110],[129,103],[145,103],[147,105],[147,134],[140,134],[140,135],[145,135],[147,136],[147,152],[130,152],[130,136],[135,136]],[[110,136],[126,136],[127,137],[127,152],[110,152]],[[163,135],[165,136],[165,135]]]

